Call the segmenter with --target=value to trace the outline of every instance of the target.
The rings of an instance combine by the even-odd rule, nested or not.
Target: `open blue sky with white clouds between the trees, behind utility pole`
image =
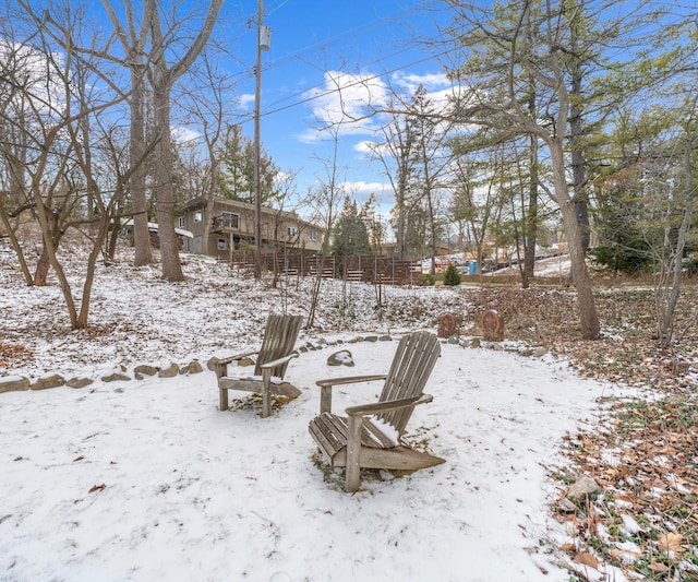
[[[353,85],[342,92],[345,107],[364,110],[364,83],[370,79],[373,98],[390,82],[411,93],[419,82],[429,91],[444,87],[440,64],[413,46],[416,35],[433,36],[433,14],[423,12],[423,0],[273,0],[265,1],[265,24],[272,28],[272,48],[263,52],[261,135],[264,149],[282,169],[298,171],[303,193],[324,177],[323,163],[329,156],[326,133],[318,133],[316,119],[338,115],[336,83]],[[225,10],[240,10],[252,16],[256,0],[229,2]],[[443,14],[442,14],[443,16]],[[254,108],[256,29],[238,31],[234,51],[240,74],[238,112],[250,116]],[[233,70],[234,70],[233,68]],[[328,79],[332,75],[336,83]],[[377,75],[377,76],[376,76]],[[320,94],[320,96],[318,96]],[[349,104],[349,105],[347,105]],[[380,119],[350,123],[339,134],[339,166],[359,201],[374,192],[383,210],[392,206],[392,191],[382,167],[366,161],[361,144],[374,138]],[[253,135],[252,121],[243,124]]]

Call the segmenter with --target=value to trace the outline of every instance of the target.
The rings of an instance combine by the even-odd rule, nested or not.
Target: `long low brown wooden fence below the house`
[[[233,253],[219,257],[219,262],[229,263],[234,269],[254,271],[254,254]],[[387,285],[418,285],[422,265],[412,261],[398,261],[390,257],[375,254],[358,257],[325,257],[320,264],[318,254],[264,254],[262,270],[277,272],[286,276],[315,276],[318,269],[324,278],[350,282],[383,283]]]

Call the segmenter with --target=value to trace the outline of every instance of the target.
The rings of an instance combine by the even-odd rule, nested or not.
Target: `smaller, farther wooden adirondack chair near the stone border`
[[[298,332],[301,326],[301,316],[269,316],[258,352],[250,352],[213,363],[214,371],[218,377],[218,391],[220,395],[220,409],[228,409],[228,390],[242,390],[262,394],[262,416],[272,414],[272,396],[286,396],[296,399],[300,390],[288,382],[273,382],[272,378],[284,379],[288,363],[298,357],[293,351]],[[228,376],[228,364],[257,354],[254,376],[238,377]]]

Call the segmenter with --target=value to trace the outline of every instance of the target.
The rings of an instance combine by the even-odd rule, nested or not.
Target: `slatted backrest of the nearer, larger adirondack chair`
[[[380,401],[421,396],[440,354],[438,337],[433,333],[405,335],[397,346]],[[378,418],[392,425],[401,436],[413,409],[408,407],[383,413]]]

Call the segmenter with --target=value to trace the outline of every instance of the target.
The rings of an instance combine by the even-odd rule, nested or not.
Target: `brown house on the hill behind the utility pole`
[[[179,228],[193,235],[185,239],[182,250],[201,254],[204,245],[205,225],[208,223],[207,254],[228,257],[233,251],[253,246],[254,204],[216,197],[210,216],[206,215],[207,200],[195,198],[184,205],[184,215],[179,218]],[[272,253],[279,248],[303,251],[321,250],[324,230],[303,221],[294,212],[279,211],[262,206],[262,253]]]

